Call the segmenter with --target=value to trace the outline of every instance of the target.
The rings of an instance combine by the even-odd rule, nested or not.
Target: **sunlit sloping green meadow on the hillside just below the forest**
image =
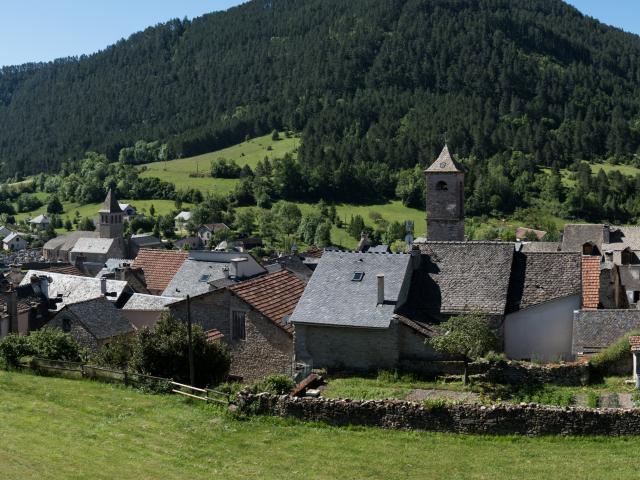
[[[280,140],[272,140],[271,135],[252,138],[246,142],[233,145],[195,157],[181,158],[168,162],[154,162],[145,165],[142,177],[158,177],[161,180],[174,183],[178,190],[197,188],[203,193],[228,193],[238,182],[235,179],[211,178],[209,171],[211,161],[219,157],[235,160],[240,166],[249,165],[255,168],[258,161],[265,157],[270,159],[282,158],[286,153],[295,154],[300,144],[299,137],[287,138],[281,135]],[[192,173],[204,173],[204,177],[190,177]]]

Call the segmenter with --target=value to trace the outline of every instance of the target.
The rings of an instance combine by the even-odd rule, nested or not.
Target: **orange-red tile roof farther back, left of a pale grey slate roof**
[[[177,250],[142,248],[131,266],[142,269],[150,293],[160,294],[188,256],[187,252]]]

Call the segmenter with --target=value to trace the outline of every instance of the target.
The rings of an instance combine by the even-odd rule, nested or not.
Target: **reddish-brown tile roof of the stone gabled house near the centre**
[[[229,287],[235,295],[287,332],[293,325],[283,319],[291,315],[304,292],[304,283],[288,270],[269,273]]]

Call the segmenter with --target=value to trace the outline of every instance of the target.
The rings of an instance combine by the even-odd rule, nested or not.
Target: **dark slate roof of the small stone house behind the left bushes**
[[[74,303],[65,308],[98,340],[135,331],[122,312],[104,297]]]

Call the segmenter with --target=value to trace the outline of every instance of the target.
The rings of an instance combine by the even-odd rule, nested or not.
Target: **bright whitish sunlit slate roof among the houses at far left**
[[[79,277],[76,275],[65,275],[63,273],[47,272],[42,270],[29,270],[20,282],[20,286],[29,285],[31,277],[44,276],[49,279],[49,298],[59,298],[57,304],[60,310],[65,305],[84,302],[93,298],[101,297],[100,279],[93,277]],[[109,296],[109,300],[117,301],[127,288],[127,282],[120,280],[107,280],[107,292],[115,293]]]

